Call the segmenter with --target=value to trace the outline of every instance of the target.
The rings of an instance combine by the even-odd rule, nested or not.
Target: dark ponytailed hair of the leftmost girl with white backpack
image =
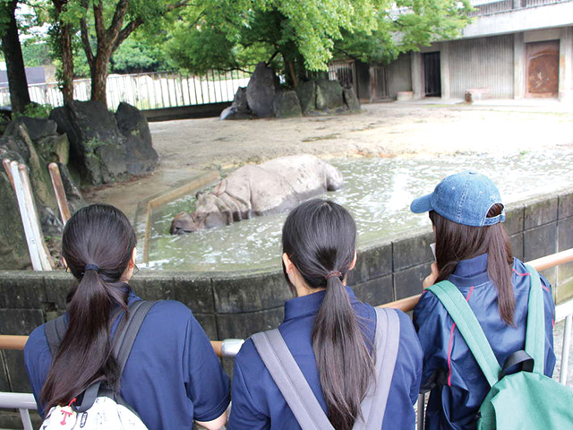
[[[97,380],[106,380],[111,388],[118,386],[109,339],[110,312],[114,306],[126,310],[129,291],[121,279],[135,244],[129,220],[107,204],[81,208],[66,224],[62,255],[78,284],[68,296],[68,330],[42,389],[46,411],[67,405]],[[99,270],[86,271],[88,264]]]

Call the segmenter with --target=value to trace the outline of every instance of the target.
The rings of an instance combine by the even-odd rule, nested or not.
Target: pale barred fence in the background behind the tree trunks
[[[125,102],[139,109],[157,109],[233,101],[236,90],[245,87],[250,77],[250,73],[243,71],[217,74],[211,71],[204,76],[171,72],[110,75],[107,77],[107,107],[115,109]],[[33,84],[28,88],[30,99],[36,103],[52,107],[64,105],[58,83]],[[73,82],[73,99],[89,100],[90,92],[89,79]],[[0,89],[0,106],[10,106],[8,88]]]

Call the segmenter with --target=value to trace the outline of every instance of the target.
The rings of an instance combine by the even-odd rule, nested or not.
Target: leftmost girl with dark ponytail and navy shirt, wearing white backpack
[[[101,380],[150,429],[190,428],[193,420],[220,428],[229,403],[227,375],[185,305],[166,300],[151,307],[118,377],[113,335],[128,306],[141,300],[128,284],[135,245],[129,220],[113,206],[84,207],[66,224],[62,256],[77,280],[68,294],[67,330],[54,357],[46,324],[24,349],[38,411],[44,417]]]

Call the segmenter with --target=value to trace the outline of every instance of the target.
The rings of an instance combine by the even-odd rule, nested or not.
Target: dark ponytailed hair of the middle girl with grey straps
[[[354,260],[355,241],[354,219],[329,201],[300,204],[283,227],[283,252],[306,285],[326,288],[312,328],[312,348],[329,421],[338,430],[352,428],[373,378],[372,357],[343,285]],[[290,285],[286,272],[285,277]]]

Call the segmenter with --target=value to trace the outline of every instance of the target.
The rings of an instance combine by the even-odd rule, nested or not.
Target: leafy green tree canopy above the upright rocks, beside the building
[[[296,85],[328,70],[333,56],[387,62],[455,37],[470,9],[469,0],[196,0],[167,52],[195,73],[266,61]]]

